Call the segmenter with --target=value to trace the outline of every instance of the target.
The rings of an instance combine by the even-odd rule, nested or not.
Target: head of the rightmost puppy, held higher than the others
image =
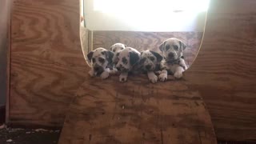
[[[173,61],[182,57],[186,45],[178,38],[169,38],[165,42],[162,42],[159,49],[162,51],[162,55],[166,60]]]

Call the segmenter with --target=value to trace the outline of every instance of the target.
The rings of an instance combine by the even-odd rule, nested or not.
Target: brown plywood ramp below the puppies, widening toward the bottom
[[[217,143],[210,115],[187,83],[148,82],[146,75],[86,78],[66,115],[60,144]]]

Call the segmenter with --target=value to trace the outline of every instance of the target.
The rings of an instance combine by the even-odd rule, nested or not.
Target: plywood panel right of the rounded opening
[[[185,73],[218,139],[256,141],[256,1],[214,0],[202,48]]]

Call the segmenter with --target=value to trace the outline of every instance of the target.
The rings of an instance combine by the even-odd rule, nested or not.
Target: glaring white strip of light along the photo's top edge
[[[94,10],[105,13],[206,11],[210,0],[94,0]]]

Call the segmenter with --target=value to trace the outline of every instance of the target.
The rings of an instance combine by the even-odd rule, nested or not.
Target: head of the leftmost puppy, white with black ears
[[[90,63],[92,63],[94,73],[96,74],[102,74],[102,72],[106,69],[106,66],[112,63],[113,56],[113,52],[102,47],[90,51],[90,53],[87,54],[87,58],[89,59]]]

